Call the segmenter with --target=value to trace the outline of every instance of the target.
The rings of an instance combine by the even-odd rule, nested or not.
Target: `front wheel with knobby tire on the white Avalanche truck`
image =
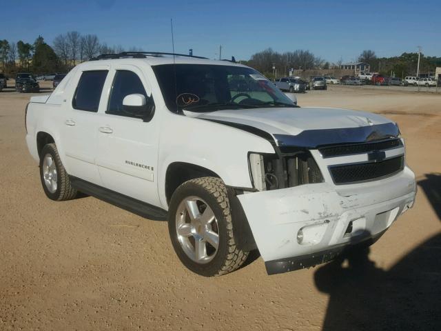
[[[219,178],[179,186],[170,201],[168,228],[178,258],[201,276],[232,272],[248,257],[236,246],[227,188]]]

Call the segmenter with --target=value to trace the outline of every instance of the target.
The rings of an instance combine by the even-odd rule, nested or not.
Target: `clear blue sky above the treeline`
[[[247,60],[271,47],[309,50],[329,62],[416,52],[441,57],[441,1],[0,0],[0,39],[52,44],[58,34],[96,34],[108,46]]]

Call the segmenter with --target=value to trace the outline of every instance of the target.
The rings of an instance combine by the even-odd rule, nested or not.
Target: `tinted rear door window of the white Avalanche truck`
[[[81,74],[80,81],[76,87],[74,99],[72,99],[72,107],[87,112],[97,112],[99,107],[99,99],[107,70],[84,71]]]

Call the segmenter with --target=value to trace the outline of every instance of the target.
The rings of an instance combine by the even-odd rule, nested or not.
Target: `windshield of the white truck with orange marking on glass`
[[[163,64],[152,69],[172,112],[297,107],[274,83],[252,68]]]

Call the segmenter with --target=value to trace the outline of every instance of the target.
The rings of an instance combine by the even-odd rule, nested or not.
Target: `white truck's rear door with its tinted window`
[[[77,73],[75,81],[78,81],[78,85],[73,97],[64,100],[67,104],[60,130],[68,173],[96,185],[101,185],[95,165],[98,110],[102,105],[101,94],[109,72],[107,66],[100,67],[102,70]]]

